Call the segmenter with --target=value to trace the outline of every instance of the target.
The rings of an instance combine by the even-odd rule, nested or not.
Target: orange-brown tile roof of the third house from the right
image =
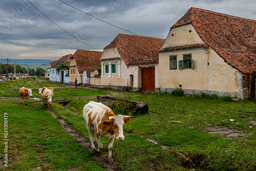
[[[101,51],[89,51],[89,50],[80,50],[78,49],[72,58],[75,58],[76,67],[79,73],[86,71],[87,74],[98,68],[101,68],[101,63],[99,59],[101,57]]]

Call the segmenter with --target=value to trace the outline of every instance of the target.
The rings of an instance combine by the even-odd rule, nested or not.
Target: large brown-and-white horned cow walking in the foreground
[[[104,137],[109,141],[109,161],[112,159],[113,142],[116,139],[124,140],[123,127],[126,122],[133,116],[114,115],[113,111],[100,102],[90,101],[83,108],[83,118],[86,121],[86,127],[92,143],[92,149],[96,149],[95,133],[98,142],[97,151],[103,148],[101,138]]]

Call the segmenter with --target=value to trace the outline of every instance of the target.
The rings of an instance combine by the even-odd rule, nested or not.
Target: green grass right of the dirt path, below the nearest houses
[[[125,140],[114,142],[112,155],[122,169],[184,170],[190,168],[187,159],[196,162],[203,156],[205,158],[196,165],[198,170],[255,169],[256,131],[250,122],[256,120],[255,102],[169,94],[138,95],[123,98],[146,102],[150,112],[134,116],[124,127]],[[96,98],[72,100],[65,107],[55,105],[53,110],[88,138],[82,109],[91,100],[96,101]],[[229,122],[229,119],[235,122]],[[215,126],[236,129],[245,135],[226,139],[225,136],[205,133],[207,127]],[[103,151],[108,152],[104,139],[103,147]]]

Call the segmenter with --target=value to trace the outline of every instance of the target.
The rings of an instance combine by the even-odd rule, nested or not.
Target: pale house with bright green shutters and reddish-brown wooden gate
[[[100,58],[100,87],[155,92],[158,54],[164,39],[119,34]],[[157,81],[156,81],[157,80]]]

